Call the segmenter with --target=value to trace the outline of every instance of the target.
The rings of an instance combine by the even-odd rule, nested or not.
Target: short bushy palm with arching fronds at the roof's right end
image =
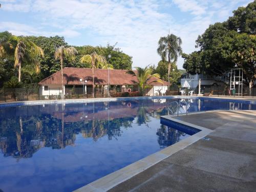
[[[136,71],[133,70],[129,70],[126,73],[131,74],[133,76],[136,76],[138,79],[138,86],[142,91],[143,94],[143,89],[146,86],[146,84],[150,84],[147,83],[152,77],[156,77],[156,78],[160,78],[160,75],[158,73],[152,74],[153,70],[151,68],[149,68],[149,66],[146,66],[144,69],[140,68],[140,67],[136,67],[135,68]],[[155,81],[151,81],[152,82],[161,82],[161,79],[159,80],[155,80]]]

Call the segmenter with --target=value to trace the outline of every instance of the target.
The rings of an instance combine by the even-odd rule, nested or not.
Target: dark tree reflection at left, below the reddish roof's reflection
[[[30,158],[41,147],[53,149],[73,145],[77,134],[84,138],[98,138],[105,135],[109,139],[121,136],[121,126],[131,127],[134,118],[125,117],[111,120],[88,120],[64,122],[51,115],[6,119],[0,121],[0,148],[4,156],[16,159]]]

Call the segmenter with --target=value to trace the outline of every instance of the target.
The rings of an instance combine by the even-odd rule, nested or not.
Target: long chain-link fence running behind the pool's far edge
[[[170,87],[169,90],[161,92],[161,89],[148,87],[140,90],[136,86],[111,86],[108,87],[98,86],[94,89],[94,98],[104,97],[136,97],[136,96],[173,96],[181,95],[181,90],[185,91],[185,95],[190,95],[189,89],[179,88],[178,86]],[[65,88],[64,99],[83,99],[93,98],[93,88],[88,87],[84,89],[82,87]],[[41,88],[15,88],[15,89],[0,89],[0,102],[11,101],[32,101],[32,100],[58,100],[62,97],[61,88],[48,88],[42,92]],[[198,96],[198,89],[194,90],[192,95]],[[247,97],[256,98],[256,88],[249,89],[244,87],[242,90],[229,90],[227,87],[202,87],[201,94],[209,97]]]

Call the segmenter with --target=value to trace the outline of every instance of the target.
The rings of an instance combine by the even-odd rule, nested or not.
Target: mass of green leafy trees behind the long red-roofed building
[[[7,42],[8,39],[12,37],[12,34],[8,31],[0,32],[0,43]],[[24,83],[32,82],[36,83],[41,79],[44,79],[51,74],[60,70],[59,61],[55,60],[54,53],[57,48],[60,46],[70,47],[67,42],[65,42],[64,37],[54,36],[54,37],[44,37],[44,36],[26,36],[22,37],[27,41],[34,42],[35,45],[39,46],[44,50],[44,57],[29,58],[27,56],[24,57],[23,67],[26,70],[35,70],[36,66],[40,64],[40,73],[37,74],[37,77],[33,77],[28,73],[25,73],[26,70],[23,70],[23,78],[22,81]],[[13,46],[16,44],[12,41]],[[114,69],[132,69],[132,57],[123,53],[120,48],[116,48],[111,45],[107,45],[106,47],[92,47],[92,46],[81,46],[75,47],[78,51],[78,54],[75,56],[74,61],[68,61],[66,58],[63,59],[63,67],[75,67],[75,68],[90,68],[90,63],[80,62],[80,58],[86,54],[92,54],[93,52],[98,53],[99,55],[103,55],[108,63],[113,66]],[[8,54],[7,54],[8,52]],[[111,58],[108,57],[111,55]],[[36,61],[36,62],[35,62]],[[0,46],[0,87],[3,86],[3,83],[8,81],[12,76],[17,75],[17,69],[13,68],[14,64],[14,50],[8,50],[5,46],[5,52],[3,52],[2,47]],[[30,66],[28,69],[26,66]],[[38,70],[38,69],[37,69]]]

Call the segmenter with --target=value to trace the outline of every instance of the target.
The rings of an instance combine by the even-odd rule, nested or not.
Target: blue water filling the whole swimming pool
[[[193,135],[197,130],[160,123],[177,113],[167,108],[173,101],[180,99],[0,108],[0,189],[71,191]],[[186,102],[188,112],[256,110],[245,101]]]

